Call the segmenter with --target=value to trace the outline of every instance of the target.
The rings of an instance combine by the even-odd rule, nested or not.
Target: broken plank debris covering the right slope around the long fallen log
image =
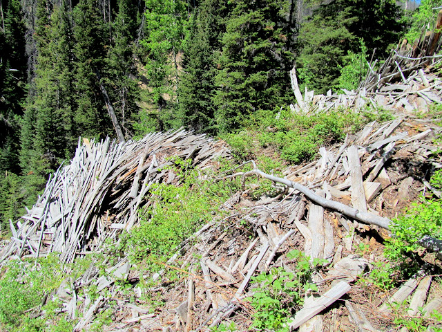
[[[432,121],[407,117],[371,122],[342,145],[321,148],[318,160],[289,167],[284,180],[327,201],[390,221],[410,199],[433,193],[425,169],[442,167],[441,160],[429,158],[439,149],[432,138],[441,131]],[[232,173],[218,181],[253,175],[256,169],[253,172]],[[204,225],[169,259],[166,266],[184,274],[180,281],[170,283],[164,270],[144,275],[156,284],[133,288],[135,304],[120,299],[114,286],[113,299],[120,310],[108,331],[208,331],[225,320],[234,322],[238,331],[248,331],[252,309],[245,298],[253,295],[251,277],[274,267],[294,270],[296,261],[286,255],[291,249],[329,261],[327,269],[312,277],[318,292],[307,293],[304,306],[296,308],[291,331],[380,331],[392,320],[391,308],[384,303],[409,297],[410,315],[419,307],[424,308],[423,315],[441,310],[442,301],[435,295],[437,283],[432,287],[425,270],[392,294],[372,288],[378,294],[361,305],[361,286],[355,282],[381,255],[378,234],[386,236],[386,230],[361,223],[345,210],[324,208],[293,184],[278,196],[262,196],[259,201],[252,201],[249,192],[246,186],[231,196],[221,208],[230,216]],[[367,250],[357,255],[361,244]],[[131,275],[131,282],[137,279],[126,257],[108,273],[111,278],[95,277],[98,289],[110,287],[122,275]],[[77,282],[88,280],[81,277]],[[148,313],[144,292],[162,296],[164,308]],[[105,301],[97,299],[97,308]]]

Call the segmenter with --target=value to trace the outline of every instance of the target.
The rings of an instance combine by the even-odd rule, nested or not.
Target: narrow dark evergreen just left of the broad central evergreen
[[[225,9],[220,1],[203,1],[191,16],[184,41],[180,120],[197,132],[215,133],[215,52],[220,49]]]

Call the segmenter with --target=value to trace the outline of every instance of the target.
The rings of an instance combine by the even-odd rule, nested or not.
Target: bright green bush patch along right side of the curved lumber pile
[[[200,180],[198,171],[191,169],[186,160],[175,160],[172,168],[181,184],[152,185],[150,193],[155,203],[140,211],[140,227],[122,234],[117,248],[132,261],[144,260],[151,269],[157,269],[159,261],[166,261],[182,241],[211,221],[213,211],[233,194],[230,185]]]

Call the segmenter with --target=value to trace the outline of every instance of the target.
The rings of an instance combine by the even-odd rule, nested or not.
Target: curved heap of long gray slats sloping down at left
[[[59,252],[62,263],[94,252],[104,241],[138,222],[137,210],[149,204],[146,193],[153,183],[177,183],[165,167],[169,157],[191,159],[208,167],[211,160],[228,156],[223,142],[178,129],[151,133],[124,143],[84,140],[78,143],[70,165],[50,176],[46,190],[17,227],[10,221],[12,240],[0,261],[8,257],[43,257]]]

